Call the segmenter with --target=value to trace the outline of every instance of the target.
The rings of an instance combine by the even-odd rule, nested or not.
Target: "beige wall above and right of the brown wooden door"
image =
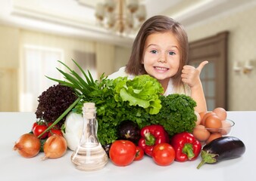
[[[189,41],[195,41],[224,30],[229,31],[228,43],[228,107],[229,110],[256,110],[256,8],[237,11],[233,15],[208,20],[188,27]],[[250,74],[233,71],[233,63],[253,60]]]

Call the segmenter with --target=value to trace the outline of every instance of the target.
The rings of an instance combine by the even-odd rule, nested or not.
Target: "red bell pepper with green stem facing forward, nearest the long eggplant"
[[[175,150],[176,161],[192,161],[201,152],[201,143],[195,139],[192,133],[176,133],[170,140],[170,145]]]

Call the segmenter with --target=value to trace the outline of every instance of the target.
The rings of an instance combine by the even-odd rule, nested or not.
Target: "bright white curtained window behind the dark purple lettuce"
[[[58,84],[45,77],[62,79],[56,67],[58,60],[63,61],[64,51],[57,48],[45,48],[25,45],[23,48],[22,92],[20,95],[20,111],[35,112],[38,97],[53,84]]]

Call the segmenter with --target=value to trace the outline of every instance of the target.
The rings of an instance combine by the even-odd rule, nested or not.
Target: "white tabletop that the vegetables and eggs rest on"
[[[255,180],[256,176],[256,112],[228,112],[228,118],[235,121],[232,136],[245,143],[245,154],[240,158],[204,164],[196,168],[201,157],[183,163],[174,161],[167,167],[155,164],[145,156],[142,161],[133,161],[126,167],[117,167],[108,161],[102,170],[85,172],[76,170],[70,161],[70,150],[58,159],[41,161],[44,153],[34,158],[23,158],[13,151],[15,141],[30,131],[36,115],[29,112],[0,112],[0,180]]]

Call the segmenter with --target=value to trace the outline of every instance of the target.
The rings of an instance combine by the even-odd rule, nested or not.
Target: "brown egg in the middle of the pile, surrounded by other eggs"
[[[217,115],[210,115],[205,119],[204,126],[211,128],[209,129],[211,133],[217,133],[220,127],[222,127],[222,123]]]

